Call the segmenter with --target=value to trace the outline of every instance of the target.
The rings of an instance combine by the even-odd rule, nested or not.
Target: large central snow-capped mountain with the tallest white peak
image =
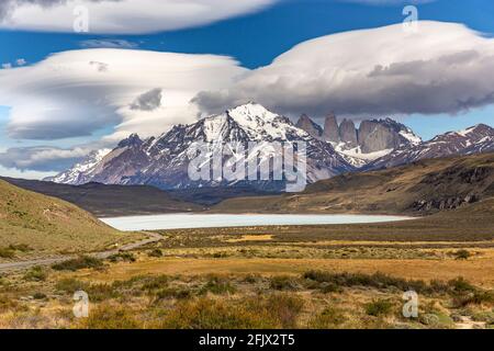
[[[122,140],[110,154],[105,155],[89,172],[79,172],[78,177],[55,177],[63,183],[81,184],[100,182],[105,184],[148,184],[161,189],[188,189],[216,185],[249,185],[256,189],[282,190],[284,181],[235,181],[223,179],[193,181],[188,174],[191,147],[204,143],[306,143],[306,181],[308,183],[355,168],[349,165],[332,144],[319,140],[297,128],[283,116],[274,114],[256,103],[248,103],[223,114],[203,118],[194,124],[175,126],[168,133],[155,138],[142,140],[137,135]],[[218,144],[221,145],[221,144]],[[269,146],[266,146],[269,147]],[[249,150],[247,159],[258,149]],[[261,159],[262,162],[269,162]],[[75,169],[64,174],[75,173]]]

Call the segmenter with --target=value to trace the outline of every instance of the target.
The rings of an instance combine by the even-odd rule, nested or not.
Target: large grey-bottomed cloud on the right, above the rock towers
[[[493,38],[460,24],[396,24],[302,43],[194,101],[205,112],[256,100],[288,115],[456,114],[494,103],[493,71]]]

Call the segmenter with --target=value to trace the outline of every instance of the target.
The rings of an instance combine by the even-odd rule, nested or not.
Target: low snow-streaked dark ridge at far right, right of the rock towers
[[[422,159],[494,151],[494,128],[479,124],[460,132],[449,132],[413,147],[400,147],[366,166],[366,170],[390,168]]]

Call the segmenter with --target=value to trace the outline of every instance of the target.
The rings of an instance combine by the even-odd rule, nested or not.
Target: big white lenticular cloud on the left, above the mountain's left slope
[[[11,107],[7,133],[14,139],[88,136],[114,125],[106,141],[135,132],[149,136],[194,121],[198,110],[189,101],[199,91],[228,87],[245,71],[234,59],[215,55],[65,52],[0,70],[0,105]],[[165,97],[159,104],[158,91]],[[153,109],[132,107],[143,97]]]

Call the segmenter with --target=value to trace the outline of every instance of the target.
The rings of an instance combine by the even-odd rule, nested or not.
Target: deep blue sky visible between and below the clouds
[[[404,19],[402,9],[406,1],[391,0],[381,5],[368,2],[371,1],[281,0],[248,13],[239,11],[236,16],[212,20],[206,24],[138,35],[81,35],[54,33],[49,30],[40,32],[29,27],[3,29],[0,30],[0,64],[10,63],[15,67],[15,61],[22,58],[31,67],[54,53],[85,49],[91,43],[94,46],[94,41],[120,41],[119,43],[139,50],[229,56],[238,60],[240,68],[256,69],[270,65],[278,56],[308,39],[397,24]],[[437,0],[416,7],[419,20],[456,22],[482,32],[487,37],[494,34],[494,1]],[[70,148],[97,143],[119,127],[119,123],[110,118],[110,122],[79,136],[43,140],[12,137],[12,134],[8,133],[10,111],[7,106],[0,106],[0,151],[13,147],[36,146]],[[303,112],[305,111],[300,111]],[[462,129],[478,123],[494,125],[494,107],[487,105],[460,113],[437,113],[427,116],[411,113],[401,115],[400,120],[428,139],[438,133]]]

